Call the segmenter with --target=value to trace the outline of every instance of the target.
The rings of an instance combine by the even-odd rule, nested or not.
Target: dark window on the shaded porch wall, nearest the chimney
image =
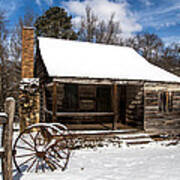
[[[77,111],[78,110],[78,86],[75,84],[64,85],[64,111]]]

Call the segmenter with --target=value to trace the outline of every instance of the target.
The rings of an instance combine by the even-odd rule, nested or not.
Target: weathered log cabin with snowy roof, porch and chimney
[[[35,40],[27,27],[22,46],[21,129],[59,122],[70,129],[180,132],[180,78],[132,48]]]

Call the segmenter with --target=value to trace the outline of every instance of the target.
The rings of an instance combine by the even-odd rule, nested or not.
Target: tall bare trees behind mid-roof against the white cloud
[[[79,30],[79,40],[116,44],[118,42],[118,34],[121,33],[119,22],[114,21],[114,14],[111,15],[109,21],[100,21],[93,13],[90,7],[86,7],[86,16],[81,19]]]

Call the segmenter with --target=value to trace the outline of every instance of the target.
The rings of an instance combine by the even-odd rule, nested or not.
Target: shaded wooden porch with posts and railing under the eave
[[[62,84],[63,88],[66,84],[73,84],[80,87],[95,87],[94,89],[96,91],[99,87],[105,87],[105,90],[109,90],[109,95],[107,94],[107,92],[103,94],[103,91],[100,91],[103,95],[100,95],[100,98],[98,99],[97,92],[93,92],[95,94],[95,97],[91,97],[93,94],[92,91],[86,89],[86,97],[83,97],[85,100],[87,100],[87,102],[89,101],[89,104],[86,104],[86,108],[84,108],[83,110],[79,107],[77,109],[64,110],[62,108],[62,104],[64,101],[61,99],[62,102],[60,102],[59,100],[59,96],[61,96],[60,93],[62,93],[59,91],[62,90],[58,90],[59,86],[61,86]],[[122,86],[122,84],[132,85],[135,84],[135,82],[123,81],[122,83],[109,80],[53,78],[52,82],[46,84],[45,88],[43,88],[43,121],[46,122],[47,119],[51,119],[50,122],[59,122],[65,124],[68,129],[73,130],[132,129],[132,126],[129,126],[125,120],[126,107],[123,102],[126,102],[122,99],[122,97],[125,99],[126,93],[123,88],[121,91],[119,91],[119,87]],[[49,97],[47,97],[47,90],[49,91]],[[90,91],[91,94],[88,91]],[[79,103],[81,101],[80,98],[82,94],[78,93],[74,93],[74,96],[78,96]],[[52,103],[49,103],[50,100]],[[95,101],[94,104],[96,106],[93,111],[91,108],[89,108],[89,106],[92,106],[92,101]],[[102,111],[104,110],[103,108],[97,108],[99,103],[98,101],[102,101],[101,104],[102,106],[105,106],[104,109],[107,111]],[[106,106],[109,106],[109,108],[107,108]]]

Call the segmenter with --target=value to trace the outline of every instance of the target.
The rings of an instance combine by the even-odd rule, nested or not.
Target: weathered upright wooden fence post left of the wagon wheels
[[[14,98],[7,98],[5,101],[5,112],[8,115],[8,121],[3,127],[2,146],[4,147],[4,156],[2,158],[3,180],[12,180],[12,138],[13,138],[13,120],[15,113]]]

